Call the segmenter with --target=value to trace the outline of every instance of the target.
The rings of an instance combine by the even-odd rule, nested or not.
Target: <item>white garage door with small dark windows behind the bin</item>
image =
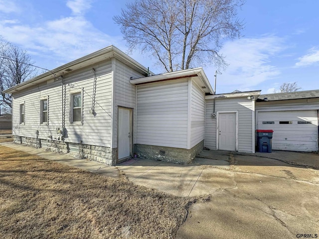
[[[258,112],[258,129],[273,129],[272,148],[318,151],[317,111]]]

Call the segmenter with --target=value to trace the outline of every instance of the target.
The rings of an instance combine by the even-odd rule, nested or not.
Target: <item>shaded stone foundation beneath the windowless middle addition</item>
[[[190,163],[204,148],[204,140],[191,149],[135,144],[134,152],[140,158],[148,158],[173,163]]]

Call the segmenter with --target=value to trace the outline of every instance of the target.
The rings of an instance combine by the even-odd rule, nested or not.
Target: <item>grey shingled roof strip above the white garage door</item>
[[[296,92],[260,95],[257,99],[257,102],[285,101],[285,100],[298,100],[298,99],[310,99],[310,98],[319,98],[319,90],[296,91]]]

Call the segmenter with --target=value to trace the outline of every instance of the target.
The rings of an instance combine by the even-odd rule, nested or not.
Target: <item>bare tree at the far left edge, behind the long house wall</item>
[[[12,107],[11,96],[3,91],[35,76],[32,63],[26,51],[0,38],[0,106]]]

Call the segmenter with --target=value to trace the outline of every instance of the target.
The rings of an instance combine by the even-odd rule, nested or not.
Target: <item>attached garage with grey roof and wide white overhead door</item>
[[[318,151],[319,90],[260,95],[256,128],[273,129],[272,148]]]

